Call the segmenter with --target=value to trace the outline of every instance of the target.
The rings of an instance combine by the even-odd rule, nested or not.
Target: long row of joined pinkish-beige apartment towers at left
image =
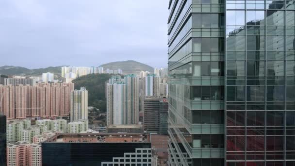
[[[74,83],[0,85],[0,112],[7,119],[69,116]]]

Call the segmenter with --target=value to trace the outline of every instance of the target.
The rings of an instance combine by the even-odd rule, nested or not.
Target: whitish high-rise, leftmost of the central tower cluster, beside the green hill
[[[107,125],[125,124],[125,83],[120,77],[107,83]]]

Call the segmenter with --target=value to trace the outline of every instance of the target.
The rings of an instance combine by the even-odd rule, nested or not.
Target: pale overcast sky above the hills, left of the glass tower
[[[0,0],[0,66],[167,66],[168,0]]]

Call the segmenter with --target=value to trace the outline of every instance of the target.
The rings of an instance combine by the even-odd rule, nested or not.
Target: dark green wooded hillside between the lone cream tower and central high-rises
[[[86,87],[88,90],[88,106],[98,108],[101,113],[106,112],[105,83],[112,74],[88,74],[73,80],[75,89]]]

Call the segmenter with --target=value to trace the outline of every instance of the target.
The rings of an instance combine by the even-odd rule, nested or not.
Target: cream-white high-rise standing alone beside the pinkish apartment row
[[[88,119],[88,91],[85,87],[71,92],[71,122]]]

